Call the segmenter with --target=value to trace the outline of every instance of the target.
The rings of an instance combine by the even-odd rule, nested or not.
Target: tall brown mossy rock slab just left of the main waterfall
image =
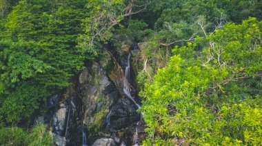
[[[97,62],[79,75],[79,95],[83,101],[84,120],[88,127],[101,127],[119,92]]]

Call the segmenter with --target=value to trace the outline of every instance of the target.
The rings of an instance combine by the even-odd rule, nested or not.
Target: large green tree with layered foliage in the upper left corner
[[[60,2],[57,3],[59,8],[52,12],[49,8],[56,7],[48,1],[19,1],[8,15],[6,35],[2,36],[1,50],[6,58],[3,62],[10,61],[10,56],[14,56],[12,53],[19,53],[18,56],[23,53],[23,56],[28,55],[23,58],[32,58],[34,64],[39,62],[34,68],[40,74],[30,75],[37,76],[41,84],[67,86],[72,71],[82,69],[85,59],[84,51],[75,47],[84,15],[81,8],[75,8],[82,6],[83,9],[84,4]],[[26,66],[22,63],[20,66]],[[52,69],[44,71],[47,67]]]

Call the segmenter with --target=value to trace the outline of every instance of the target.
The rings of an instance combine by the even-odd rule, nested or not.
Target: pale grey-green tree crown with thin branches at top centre
[[[121,14],[125,9],[123,0],[103,1],[88,0],[88,17],[83,21],[83,32],[79,36],[79,47],[97,55],[102,43],[107,43],[112,38],[112,29],[122,19]]]

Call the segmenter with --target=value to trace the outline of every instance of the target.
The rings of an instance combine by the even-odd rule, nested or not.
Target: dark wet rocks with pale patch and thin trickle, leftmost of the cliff
[[[54,145],[81,145],[82,101],[75,86],[74,83],[59,94],[54,93],[46,101],[48,111],[42,119],[52,126]]]

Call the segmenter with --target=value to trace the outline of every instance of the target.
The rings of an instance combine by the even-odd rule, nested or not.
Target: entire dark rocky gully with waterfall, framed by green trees
[[[121,66],[110,54],[110,72],[88,62],[72,86],[56,96],[49,120],[55,145],[139,145],[144,127],[137,112],[141,105],[134,99],[137,89],[130,84],[131,52]]]

